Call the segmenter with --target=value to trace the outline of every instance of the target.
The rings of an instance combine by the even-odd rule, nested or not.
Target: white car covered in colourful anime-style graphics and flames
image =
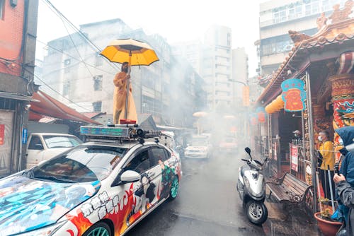
[[[86,143],[0,179],[0,235],[124,235],[176,198],[181,160],[149,132],[81,131]]]

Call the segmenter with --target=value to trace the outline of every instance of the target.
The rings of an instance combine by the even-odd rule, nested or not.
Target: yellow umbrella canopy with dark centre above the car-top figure
[[[113,40],[101,52],[110,62],[130,62],[130,66],[149,66],[159,61],[154,49],[147,43],[133,39]]]

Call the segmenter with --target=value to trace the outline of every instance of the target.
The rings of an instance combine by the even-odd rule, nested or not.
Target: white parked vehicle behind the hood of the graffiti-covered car
[[[28,136],[28,146],[25,153],[29,169],[43,160],[55,157],[59,153],[78,146],[82,141],[71,134],[33,133]]]

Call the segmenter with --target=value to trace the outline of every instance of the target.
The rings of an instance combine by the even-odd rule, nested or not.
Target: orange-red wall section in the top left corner
[[[14,76],[21,74],[24,8],[24,0],[17,1],[15,7],[10,5],[10,0],[5,0],[4,19],[0,19],[0,72]]]

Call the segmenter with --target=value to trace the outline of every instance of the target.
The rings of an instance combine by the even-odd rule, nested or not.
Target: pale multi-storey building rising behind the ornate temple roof
[[[314,35],[316,19],[330,16],[335,4],[344,0],[272,0],[260,4],[258,56],[259,74],[267,76],[284,61],[293,43],[289,30]]]

